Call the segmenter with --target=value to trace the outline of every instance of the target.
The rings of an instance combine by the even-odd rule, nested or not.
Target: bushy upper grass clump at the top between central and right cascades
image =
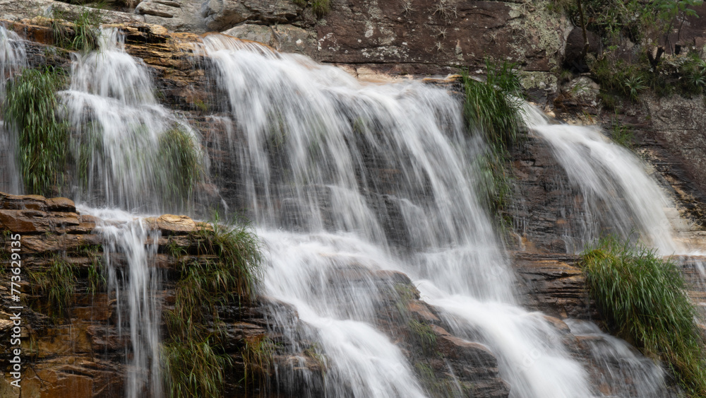
[[[493,64],[486,59],[486,81],[462,73],[465,88],[463,114],[468,127],[484,132],[487,141],[502,153],[523,139],[522,85],[515,64]]]

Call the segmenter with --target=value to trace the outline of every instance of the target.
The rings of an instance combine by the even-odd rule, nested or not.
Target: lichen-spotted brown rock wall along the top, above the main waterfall
[[[322,62],[383,67],[393,74],[477,68],[491,54],[546,74],[561,65],[571,30],[568,19],[551,11],[550,3],[332,1],[331,11],[317,19],[311,8],[292,0],[144,0],[135,13],[102,15],[105,23],[144,22],[189,33],[268,26],[264,39],[274,33],[282,51],[302,52]],[[80,10],[52,0],[0,0],[0,18],[34,18],[49,6]]]

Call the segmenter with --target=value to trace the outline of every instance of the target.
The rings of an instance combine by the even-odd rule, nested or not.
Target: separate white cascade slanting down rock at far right
[[[604,226],[623,237],[635,231],[660,254],[674,254],[673,228],[664,211],[674,204],[637,156],[597,128],[550,124],[529,104],[524,114],[531,131],[551,146],[570,183],[583,196],[585,229],[575,237],[578,245],[569,247],[582,250],[585,243],[599,238],[599,228]]]

